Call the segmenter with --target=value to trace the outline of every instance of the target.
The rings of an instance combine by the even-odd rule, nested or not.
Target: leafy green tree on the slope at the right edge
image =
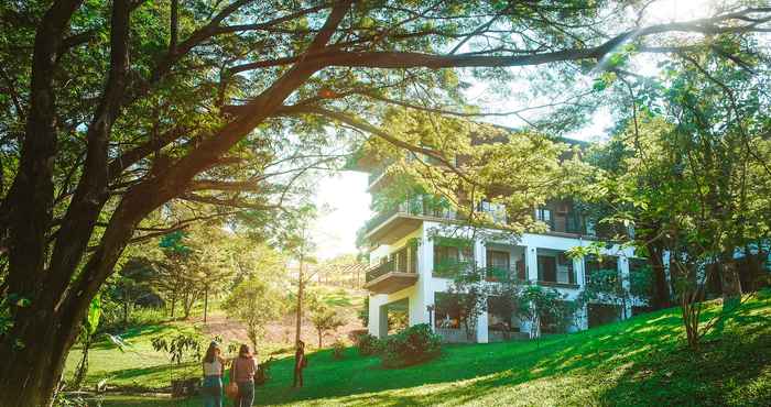
[[[748,52],[724,59],[681,51],[661,67],[656,78],[619,73],[613,79],[630,96],[632,114],[598,148],[596,191],[611,208],[607,220],[636,226],[629,238],[649,253],[658,305],[669,298],[661,256],[669,254],[672,292],[688,344],[697,348],[754,286],[758,276],[742,278],[738,254],[749,265],[768,252],[771,76],[768,57]],[[699,326],[710,282],[719,286],[724,312]]]

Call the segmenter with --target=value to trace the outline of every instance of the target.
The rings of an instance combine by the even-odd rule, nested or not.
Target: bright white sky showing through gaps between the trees
[[[660,0],[647,9],[643,21],[653,24],[703,18],[708,15],[708,6],[713,2],[713,0]],[[642,74],[653,74],[655,62],[651,59],[649,64],[643,64],[642,70]],[[475,84],[467,96],[477,103],[484,103],[481,106],[489,111],[515,108],[506,100],[489,100],[486,95],[489,94],[485,85]],[[517,124],[520,123],[510,123],[510,125]],[[569,136],[594,140],[607,134],[611,124],[610,112],[600,109],[589,125]],[[356,253],[356,232],[372,216],[369,209],[371,197],[367,193],[367,174],[357,172],[328,174],[318,179],[314,201],[323,210],[313,224],[312,235],[317,245],[316,255],[319,260]]]

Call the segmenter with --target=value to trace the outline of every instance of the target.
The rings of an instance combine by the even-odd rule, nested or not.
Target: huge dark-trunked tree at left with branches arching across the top
[[[286,169],[276,148],[300,144],[303,157],[318,157],[312,146],[329,123],[371,131],[384,103],[457,101],[457,77],[442,68],[485,67],[475,74],[492,80],[510,76],[502,67],[555,64],[572,75],[622,43],[667,52],[659,41],[667,33],[746,35],[771,18],[768,8],[735,8],[638,26],[627,6],[644,8],[634,3],[4,2],[0,262],[10,329],[0,399],[48,404],[123,250],[142,233],[178,229],[145,224],[171,200],[276,205],[265,198],[275,193],[265,177]]]

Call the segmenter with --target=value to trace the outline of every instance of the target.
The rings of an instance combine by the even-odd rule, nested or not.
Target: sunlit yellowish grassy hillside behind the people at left
[[[350,331],[360,330],[363,327],[357,318],[357,312],[361,308],[365,294],[357,289],[341,288],[334,286],[315,286],[319,300],[336,308],[338,315],[347,322],[335,332],[324,336],[324,345],[327,346],[337,338],[345,339]],[[142,315],[143,312],[137,312]],[[203,309],[194,309],[194,317],[189,320],[164,321],[164,317],[159,311],[144,312],[142,317],[146,322],[129,328],[120,332],[120,337],[128,343],[123,351],[118,350],[115,344],[106,338],[96,343],[90,350],[89,370],[86,376],[86,385],[104,381],[110,387],[132,389],[143,389],[158,392],[167,387],[172,375],[183,376],[198,374],[197,363],[184,363],[178,369],[169,365],[167,355],[155,352],[151,341],[156,337],[173,337],[180,332],[197,332],[205,340],[215,337],[222,338],[225,343],[249,343],[246,328],[237,320],[228,319],[225,311],[219,309],[219,301],[210,304],[207,322],[203,322]],[[139,319],[143,319],[139,317]],[[269,354],[278,358],[283,356],[291,350],[294,341],[294,315],[270,323],[265,327],[265,338],[258,350],[261,359]],[[303,323],[303,340],[308,349],[316,349],[318,336],[311,322]],[[291,352],[290,352],[291,353]],[[65,377],[72,377],[73,371],[80,359],[79,348],[76,346],[69,354],[65,365]]]

